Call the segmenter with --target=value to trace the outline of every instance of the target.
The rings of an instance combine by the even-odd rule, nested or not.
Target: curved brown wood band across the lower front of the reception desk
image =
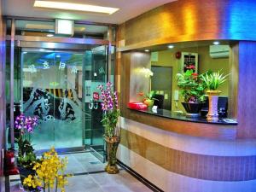
[[[121,145],[169,172],[213,181],[256,179],[256,156],[215,156],[193,154],[154,143],[121,129]],[[246,166],[245,166],[246,165]]]

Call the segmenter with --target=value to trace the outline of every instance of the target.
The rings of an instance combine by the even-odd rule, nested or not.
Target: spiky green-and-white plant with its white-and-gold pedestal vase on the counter
[[[224,75],[221,70],[216,72],[207,72],[201,75],[201,80],[207,87],[207,95],[209,98],[209,109],[207,120],[218,120],[218,96],[221,93],[218,86],[224,84],[230,74]]]

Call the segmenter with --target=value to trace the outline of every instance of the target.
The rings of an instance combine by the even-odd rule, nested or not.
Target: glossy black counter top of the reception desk
[[[227,119],[227,118],[219,118],[218,121],[208,121],[206,117],[198,117],[198,118],[188,118],[183,113],[175,113],[166,109],[157,109],[153,112],[152,108],[148,108],[146,110],[137,110],[129,108],[133,111],[138,111],[141,113],[148,113],[168,119],[177,119],[177,120],[183,120],[183,121],[190,121],[195,123],[205,123],[205,124],[217,124],[217,125],[237,125],[236,119]]]

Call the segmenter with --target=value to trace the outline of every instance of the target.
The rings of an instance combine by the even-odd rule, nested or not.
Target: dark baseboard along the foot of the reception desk
[[[137,180],[139,180],[141,183],[146,185],[149,189],[155,192],[163,192],[162,189],[158,188],[154,185],[154,183],[151,183],[148,181],[148,179],[144,178],[137,172],[135,172],[133,169],[131,169],[129,166],[126,166],[122,161],[118,160],[118,165],[121,166],[123,169],[125,169],[126,172],[129,172],[133,177],[136,177]]]

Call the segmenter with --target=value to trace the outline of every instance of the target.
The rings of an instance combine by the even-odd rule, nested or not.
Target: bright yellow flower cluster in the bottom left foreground
[[[64,172],[67,166],[67,158],[61,159],[55,148],[51,148],[49,152],[43,154],[42,158],[35,162],[33,170],[34,175],[28,175],[23,181],[26,190],[39,192],[46,189],[54,189],[55,192],[58,188],[61,192],[65,192],[67,185],[67,177]]]

